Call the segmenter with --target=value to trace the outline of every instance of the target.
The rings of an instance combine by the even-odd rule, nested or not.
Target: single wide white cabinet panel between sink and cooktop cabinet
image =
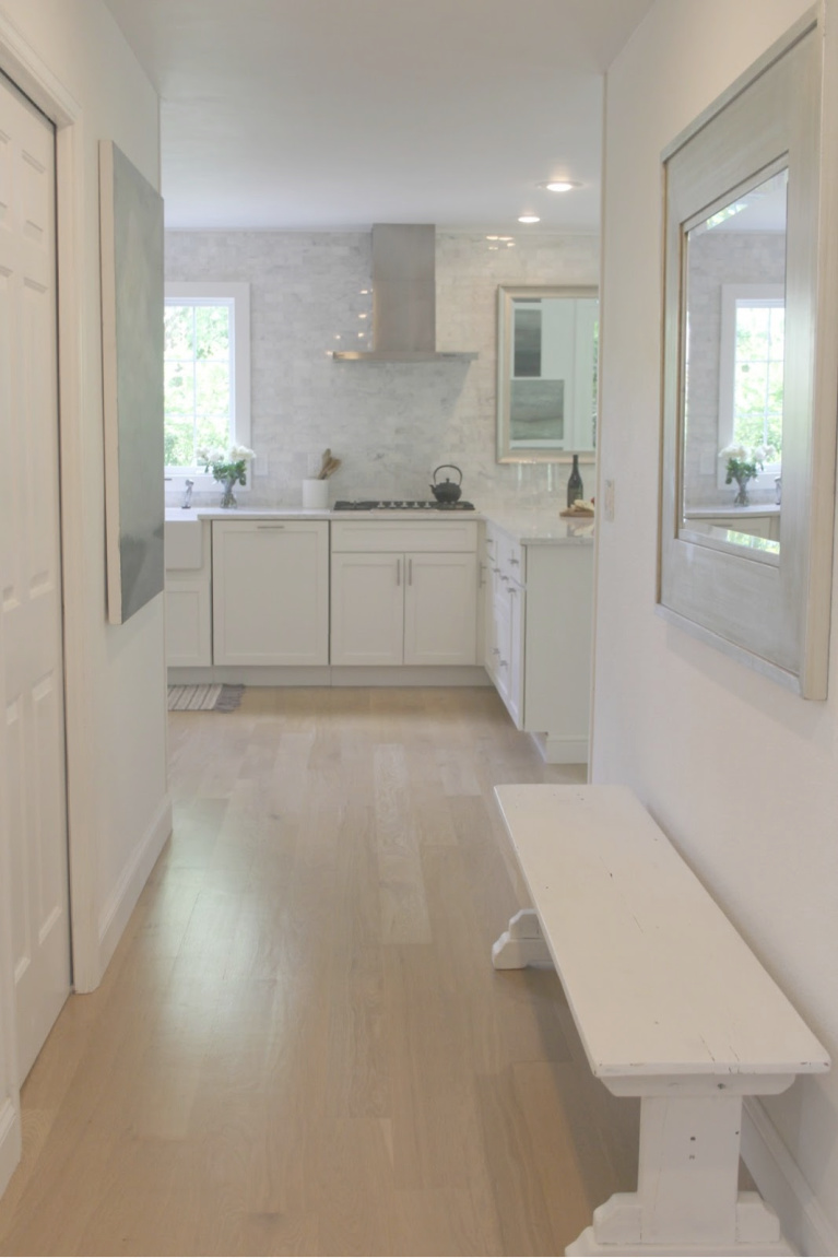
[[[328,663],[328,522],[213,523],[215,664]]]

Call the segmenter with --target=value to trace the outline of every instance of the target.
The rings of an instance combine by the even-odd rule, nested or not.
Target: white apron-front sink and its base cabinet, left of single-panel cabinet
[[[205,668],[213,663],[209,523],[166,521],[166,664]]]

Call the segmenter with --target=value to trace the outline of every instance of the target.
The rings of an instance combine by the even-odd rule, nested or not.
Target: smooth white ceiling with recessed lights
[[[596,230],[601,75],[653,0],[104,3],[162,99],[170,229],[520,233]]]

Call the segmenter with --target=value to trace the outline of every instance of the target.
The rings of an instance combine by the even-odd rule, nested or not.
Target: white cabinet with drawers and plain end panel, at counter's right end
[[[593,546],[486,526],[484,665],[518,730],[551,764],[588,759]]]

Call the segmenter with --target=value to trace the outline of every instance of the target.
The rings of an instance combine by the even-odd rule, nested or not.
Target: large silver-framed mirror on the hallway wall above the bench
[[[807,698],[827,693],[838,391],[820,84],[810,15],[663,153],[659,610]]]

